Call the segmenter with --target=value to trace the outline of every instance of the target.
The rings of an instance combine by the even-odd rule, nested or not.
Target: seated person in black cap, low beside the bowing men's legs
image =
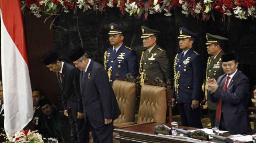
[[[42,123],[44,129],[41,130],[43,138],[57,138],[62,141],[60,117],[56,107],[46,98],[41,99],[39,102],[40,108],[43,112]]]

